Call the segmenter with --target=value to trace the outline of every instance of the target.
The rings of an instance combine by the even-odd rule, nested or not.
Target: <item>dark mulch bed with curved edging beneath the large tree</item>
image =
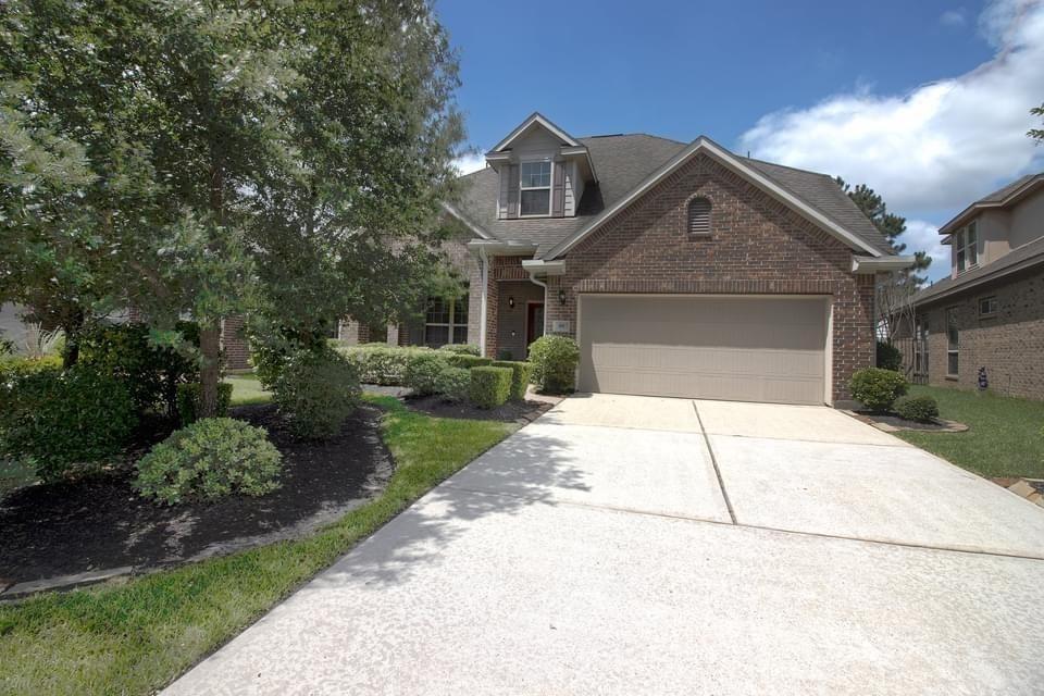
[[[23,488],[0,500],[0,577],[151,568],[300,536],[373,497],[391,474],[373,407],[319,443],[290,436],[269,403],[232,415],[269,431],[283,453],[278,490],[169,507],[139,497],[130,471]]]

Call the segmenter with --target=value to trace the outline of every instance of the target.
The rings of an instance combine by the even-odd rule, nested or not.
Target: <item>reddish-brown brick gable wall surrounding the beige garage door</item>
[[[712,234],[691,237],[687,203],[713,204]],[[576,332],[577,293],[830,295],[833,394],[873,364],[873,276],[853,275],[852,250],[706,156],[697,156],[570,250],[551,277],[548,325]],[[564,287],[566,303],[558,300]]]

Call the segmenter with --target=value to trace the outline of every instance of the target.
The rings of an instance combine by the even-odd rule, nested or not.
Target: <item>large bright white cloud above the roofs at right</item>
[[[865,183],[898,214],[957,212],[1044,158],[1026,136],[1044,95],[1044,4],[994,2],[980,27],[998,51],[970,73],[905,95],[861,88],[770,113],[739,149]]]

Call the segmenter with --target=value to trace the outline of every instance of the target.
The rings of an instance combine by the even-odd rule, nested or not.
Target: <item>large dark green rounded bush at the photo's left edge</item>
[[[0,459],[45,481],[117,455],[138,423],[123,380],[86,365],[25,371],[0,384]]]

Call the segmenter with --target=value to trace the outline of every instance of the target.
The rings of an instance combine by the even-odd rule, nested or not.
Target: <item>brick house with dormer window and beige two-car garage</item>
[[[582,391],[835,403],[873,364],[877,274],[911,262],[830,176],[706,137],[575,138],[535,113],[486,162],[446,207],[468,298],[388,343],[524,359],[555,333]]]

